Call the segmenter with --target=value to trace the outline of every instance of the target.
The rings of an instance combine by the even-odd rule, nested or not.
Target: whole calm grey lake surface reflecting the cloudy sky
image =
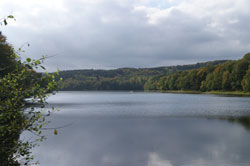
[[[41,166],[249,166],[250,98],[60,92]]]

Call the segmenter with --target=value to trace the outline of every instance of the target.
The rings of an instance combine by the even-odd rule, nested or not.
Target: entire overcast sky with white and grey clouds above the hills
[[[49,71],[239,59],[250,52],[249,0],[1,0],[0,27]]]

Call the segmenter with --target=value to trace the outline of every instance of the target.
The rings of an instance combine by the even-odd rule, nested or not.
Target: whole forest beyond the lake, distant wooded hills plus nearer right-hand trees
[[[250,91],[250,53],[240,60],[115,70],[62,71],[61,90]]]

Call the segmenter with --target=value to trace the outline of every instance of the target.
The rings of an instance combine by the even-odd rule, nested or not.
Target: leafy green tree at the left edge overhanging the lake
[[[7,18],[3,19],[5,25]],[[6,38],[3,41],[0,57],[6,63],[1,63],[0,71],[0,162],[1,166],[29,165],[33,159],[31,149],[37,142],[21,140],[20,135],[29,131],[38,136],[39,141],[44,140],[41,129],[47,124],[46,117],[51,110],[43,112],[33,105],[43,108],[48,94],[58,88],[58,83],[53,74],[35,72],[36,68],[45,69],[41,65],[44,57],[21,62]],[[28,97],[32,98],[29,103]]]

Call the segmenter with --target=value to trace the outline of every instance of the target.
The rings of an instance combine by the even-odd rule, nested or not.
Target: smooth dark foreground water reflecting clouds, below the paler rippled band
[[[36,153],[41,165],[249,165],[250,135],[221,120],[67,118]],[[49,152],[49,153],[48,153]]]

